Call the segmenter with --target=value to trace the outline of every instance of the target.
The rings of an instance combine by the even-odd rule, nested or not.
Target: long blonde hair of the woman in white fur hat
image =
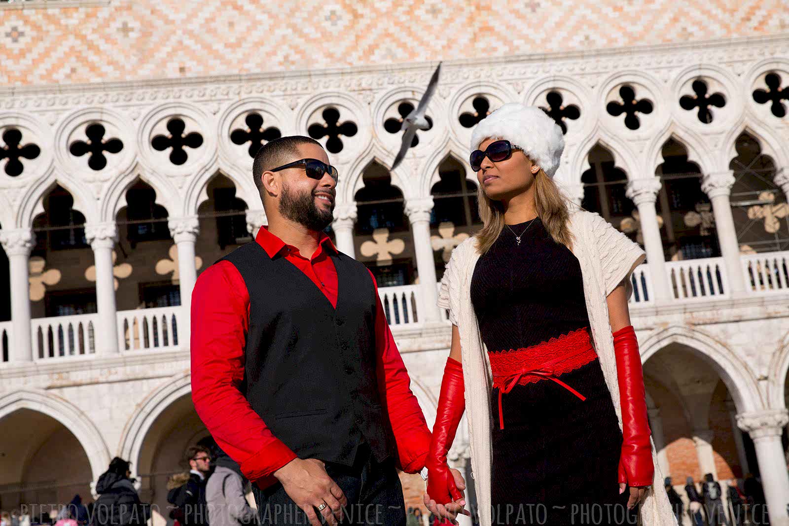
[[[534,184],[537,217],[554,241],[572,250],[574,237],[567,224],[570,218],[570,213],[567,211],[567,197],[562,195],[555,182],[542,168],[535,174]],[[476,235],[476,246],[477,252],[484,254],[493,246],[504,229],[504,205],[501,201],[492,200],[485,195],[480,185],[477,188],[477,206],[483,227]]]

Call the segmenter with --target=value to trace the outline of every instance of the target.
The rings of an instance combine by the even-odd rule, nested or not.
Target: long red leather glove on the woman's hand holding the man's
[[[428,468],[428,495],[439,504],[448,504],[463,498],[454,485],[454,476],[447,465],[447,453],[458,431],[460,418],[466,410],[463,397],[463,366],[458,360],[447,358],[447,367],[441,381],[436,424],[425,466]]]

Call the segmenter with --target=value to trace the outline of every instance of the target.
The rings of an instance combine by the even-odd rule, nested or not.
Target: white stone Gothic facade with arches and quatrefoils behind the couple
[[[0,438],[0,450],[6,453],[0,455],[0,505],[25,499],[68,502],[85,480],[95,480],[118,455],[133,462],[143,482],[143,497],[164,509],[166,476],[177,469],[185,446],[205,434],[189,401],[185,312],[198,271],[215,259],[209,256],[217,256],[199,241],[204,203],[212,199],[207,188],[217,174],[230,180],[236,198],[245,203],[249,232],[265,224],[250,175],[249,146],[231,138],[236,129],[250,131],[245,124],[250,114],[263,118],[261,132],[274,126],[283,136],[323,125],[327,109],[338,110],[338,125],[356,125],[356,132],[339,137],[342,150],[330,153],[341,174],[333,236],[341,250],[371,266],[393,259],[393,254],[412,261],[418,282],[381,287],[380,292],[391,308],[390,321],[413,391],[432,424],[451,333],[445,313],[435,306],[436,272],[443,268],[434,263],[441,258],[442,240],[455,235],[432,225],[437,197],[432,190],[441,181],[440,167],[447,159],[460,162],[462,177],[477,184],[476,174],[464,161],[470,128],[459,117],[479,113],[475,99],[485,99],[489,110],[510,101],[548,108],[549,94],[558,93],[562,111],[571,105],[580,111],[577,119],[563,121],[567,148],[556,179],[567,196],[578,203],[588,197],[589,183],[582,173],[594,170],[590,151],[604,147],[626,174],[626,197],[638,211],[635,228],[648,263],[635,274],[630,313],[645,363],[650,418],[664,471],[675,477],[692,473],[696,479],[712,472],[716,478],[731,479],[758,469],[772,524],[789,524],[789,475],[781,442],[789,420],[789,246],[743,248],[741,225],[731,205],[731,188],[742,176],[731,168],[731,161],[739,155],[737,145],[745,133],[761,155],[772,160],[772,185],[780,189],[771,194],[774,204],[754,201],[749,206],[760,207],[753,212],[754,217],[761,214],[759,221],[777,221],[776,240],[787,237],[789,118],[776,115],[775,103],[757,102],[753,92],[761,89],[775,95],[768,75],[777,76],[781,88],[789,88],[789,39],[774,35],[703,45],[445,62],[428,110],[432,129],[420,132],[419,144],[389,173],[391,185],[402,193],[408,228],[391,233],[391,239],[402,239],[405,248],[387,245],[387,252],[390,248],[381,245],[387,243],[388,231],[383,240],[354,232],[362,206],[357,196],[365,188],[371,163],[385,169],[397,151],[398,136],[386,131],[384,121],[398,118],[401,103],[419,99],[434,68],[432,62],[402,68],[359,65],[189,80],[0,88],[0,136],[18,130],[18,147],[39,147],[32,159],[21,156],[23,170],[17,175],[3,173],[0,160],[0,241],[9,260],[11,297],[11,319],[0,322],[7,355],[0,364],[0,425],[6,435]],[[710,123],[679,103],[683,95],[693,95],[697,80],[725,99],[722,107],[710,106]],[[608,111],[611,103],[628,102],[622,99],[623,87],[634,91],[635,103],[651,103],[651,111],[636,114],[637,129],[629,129],[623,115]],[[779,98],[777,104],[789,107],[789,100],[783,101]],[[202,139],[182,148],[187,157],[180,164],[168,154],[177,148],[160,151],[154,140],[174,135],[167,129],[174,119],[184,123],[184,136],[198,132]],[[103,127],[104,151],[110,151],[109,138],[123,145],[116,153],[101,154],[106,164],[100,167],[89,164],[92,155],[87,151],[73,151],[79,141],[95,146],[87,129],[96,124]],[[3,137],[0,147],[8,149],[9,140]],[[661,215],[656,208],[667,178],[656,170],[667,161],[668,140],[681,144],[687,160],[698,168],[701,191],[711,203],[708,220],[714,223],[720,256],[692,258],[680,250],[672,259],[667,253],[661,225],[669,212]],[[124,287],[136,274],[128,278],[125,270],[118,270],[122,263],[116,258],[125,261],[115,254],[122,238],[119,229],[125,224],[118,218],[133,204],[127,203],[127,192],[139,181],[153,188],[155,203],[166,209],[171,237],[156,245],[155,254],[150,248],[154,245],[146,245],[151,250],[148,270],[167,246],[177,247],[171,252],[169,272],[178,271],[172,283],[178,285],[181,306],[119,307],[129,304]],[[73,197],[73,210],[84,216],[89,244],[80,261],[61,263],[58,271],[63,280],[68,274],[81,275],[84,258],[92,250],[93,261],[88,263],[93,265],[95,313],[47,317],[31,297],[33,282],[45,290],[55,286],[47,285],[47,280],[54,280],[51,274],[31,274],[31,252],[36,244],[33,230],[42,228],[36,218],[45,212],[45,198],[56,185]],[[620,225],[624,229],[626,223]],[[473,225],[458,226],[457,231],[473,232]],[[372,248],[365,248],[365,242]],[[780,248],[780,240],[774,246]],[[196,258],[205,263],[193,265]],[[133,272],[140,266],[145,263],[134,263]],[[402,310],[394,321],[394,304],[409,311],[407,321]],[[716,420],[719,407],[728,407],[725,425]],[[681,418],[670,418],[670,413]],[[73,437],[40,415],[56,420]],[[47,432],[39,435],[33,429]],[[660,436],[664,433],[667,439]],[[460,435],[453,450],[458,464],[468,456],[466,438],[462,431]],[[58,444],[73,451],[69,455],[76,460],[64,464]],[[689,450],[694,457],[690,461]],[[42,464],[46,467],[40,468]],[[683,479],[674,482],[680,485]]]

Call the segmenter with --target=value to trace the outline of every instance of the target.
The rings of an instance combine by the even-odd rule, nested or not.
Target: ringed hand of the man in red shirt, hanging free
[[[294,458],[275,471],[274,476],[282,483],[288,497],[304,510],[312,526],[320,526],[317,513],[331,526],[342,520],[342,507],[348,505],[348,499],[328,476],[323,462],[316,458]],[[327,505],[320,512],[316,511],[324,502]]]

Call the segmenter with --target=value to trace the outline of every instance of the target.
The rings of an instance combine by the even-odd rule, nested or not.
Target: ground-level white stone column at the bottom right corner
[[[737,415],[737,425],[753,439],[772,526],[789,526],[789,474],[781,446],[781,431],[787,422],[789,412],[786,409],[767,409]]]

